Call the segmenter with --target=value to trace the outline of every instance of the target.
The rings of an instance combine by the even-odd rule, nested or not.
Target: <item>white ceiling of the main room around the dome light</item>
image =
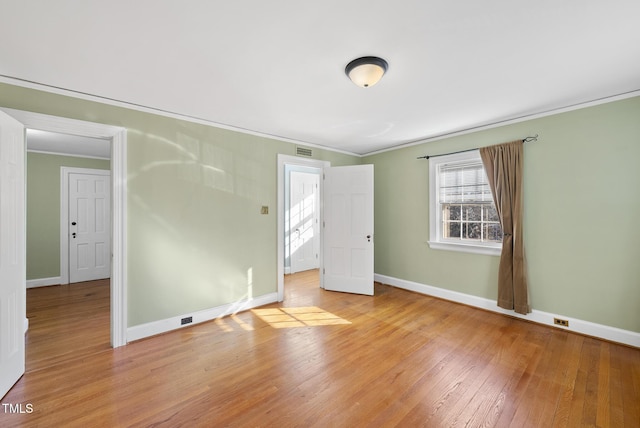
[[[351,153],[640,89],[640,1],[0,0],[0,74]],[[363,89],[344,74],[380,56]]]

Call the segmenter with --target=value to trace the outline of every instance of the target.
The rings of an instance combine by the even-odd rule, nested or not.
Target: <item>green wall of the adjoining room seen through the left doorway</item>
[[[27,153],[27,280],[60,276],[60,167],[109,169],[108,160]]]

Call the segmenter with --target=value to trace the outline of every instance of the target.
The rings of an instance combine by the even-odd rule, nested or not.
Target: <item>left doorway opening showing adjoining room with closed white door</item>
[[[111,347],[111,141],[27,129],[26,149],[29,372]]]

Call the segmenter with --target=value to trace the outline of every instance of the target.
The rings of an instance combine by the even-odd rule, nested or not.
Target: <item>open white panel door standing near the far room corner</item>
[[[373,295],[373,165],[323,171],[324,288]]]

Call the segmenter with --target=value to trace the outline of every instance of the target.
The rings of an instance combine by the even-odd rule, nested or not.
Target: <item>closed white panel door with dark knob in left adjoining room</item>
[[[69,174],[69,282],[111,276],[109,171]]]

